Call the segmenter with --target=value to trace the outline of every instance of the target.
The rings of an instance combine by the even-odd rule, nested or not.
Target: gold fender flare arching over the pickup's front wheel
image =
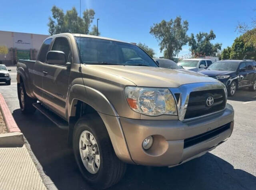
[[[121,127],[118,114],[110,101],[108,101],[106,96],[100,91],[93,89],[92,87],[79,84],[73,85],[70,88],[67,102],[68,104],[66,106],[68,118],[72,118],[75,116],[75,105],[77,104],[78,100],[90,105],[98,112],[108,131],[108,135],[112,142],[112,146],[114,148],[116,156],[118,156],[118,158],[125,162],[134,163],[128,150],[128,146],[124,137],[124,132]],[[68,139],[71,139],[71,136],[73,134],[72,128],[70,129],[71,131],[69,131]]]

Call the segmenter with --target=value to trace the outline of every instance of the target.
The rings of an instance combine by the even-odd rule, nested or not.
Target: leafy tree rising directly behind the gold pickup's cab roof
[[[85,10],[82,18],[78,16],[78,12],[75,7],[71,10],[67,10],[66,14],[64,14],[62,9],[56,6],[53,6],[51,11],[52,17],[49,17],[48,22],[48,32],[50,35],[64,32],[97,35],[97,28],[95,34],[96,26],[93,26],[92,31],[89,32],[91,23],[94,20],[94,10]]]

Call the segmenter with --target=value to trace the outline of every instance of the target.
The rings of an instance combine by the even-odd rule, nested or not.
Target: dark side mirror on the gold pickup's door
[[[46,61],[48,64],[65,65],[66,56],[63,51],[48,51]]]

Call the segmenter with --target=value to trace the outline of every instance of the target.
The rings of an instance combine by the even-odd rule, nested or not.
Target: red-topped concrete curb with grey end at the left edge
[[[7,134],[2,134],[0,137],[2,137],[0,140],[0,146],[8,146],[8,147],[14,147],[14,146],[23,146],[24,140],[23,140],[23,134],[20,131],[20,128],[16,124],[14,118],[12,117],[12,113],[10,112],[3,95],[0,93],[0,111],[2,113],[2,116],[4,118],[4,122],[6,125],[6,128],[8,130]],[[13,133],[16,132],[16,133]],[[4,144],[6,142],[6,144]]]

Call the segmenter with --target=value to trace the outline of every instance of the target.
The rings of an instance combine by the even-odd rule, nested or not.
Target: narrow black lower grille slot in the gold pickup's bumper
[[[230,123],[228,123],[226,125],[222,125],[221,127],[218,127],[218,128],[213,129],[211,131],[207,131],[206,133],[202,133],[200,135],[196,135],[194,137],[190,137],[188,139],[185,139],[184,140],[184,148],[188,148],[188,147],[193,146],[195,144],[206,141],[207,139],[215,137],[215,136],[219,135],[220,133],[223,133],[224,131],[226,131],[228,129],[230,129]]]

